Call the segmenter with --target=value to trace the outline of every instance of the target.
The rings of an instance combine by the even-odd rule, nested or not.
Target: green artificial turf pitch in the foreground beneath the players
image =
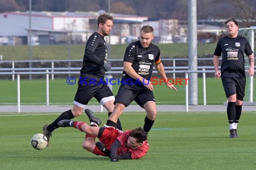
[[[111,169],[111,170],[252,170],[255,161],[255,113],[243,113],[237,139],[229,138],[225,113],[158,113],[148,141],[150,149],[140,160],[110,162],[82,149],[84,133],[58,128],[44,150],[30,140],[59,114],[0,114],[1,169]],[[107,114],[96,113],[106,122]],[[134,119],[136,117],[136,119]],[[125,129],[143,126],[145,113],[124,113]],[[88,121],[86,115],[75,120]]]

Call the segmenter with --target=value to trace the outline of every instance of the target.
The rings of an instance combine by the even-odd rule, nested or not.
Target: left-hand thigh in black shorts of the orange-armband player
[[[121,103],[124,106],[129,106],[137,96],[137,89],[131,89],[128,85],[120,85],[115,96],[114,103]]]

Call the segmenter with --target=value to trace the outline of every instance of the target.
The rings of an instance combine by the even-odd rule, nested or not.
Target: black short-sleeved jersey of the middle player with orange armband
[[[150,43],[148,48],[143,48],[140,41],[131,43],[125,51],[124,61],[132,63],[132,68],[144,79],[149,80],[153,71],[154,62],[160,60],[160,50],[157,46]],[[124,79],[132,80],[131,82],[136,82],[132,79],[126,72],[123,72]]]

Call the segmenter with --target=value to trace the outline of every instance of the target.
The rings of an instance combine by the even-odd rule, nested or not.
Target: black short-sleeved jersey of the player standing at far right
[[[221,77],[245,77],[244,53],[251,55],[252,47],[246,38],[237,36],[221,38],[216,46],[214,55],[221,56]]]

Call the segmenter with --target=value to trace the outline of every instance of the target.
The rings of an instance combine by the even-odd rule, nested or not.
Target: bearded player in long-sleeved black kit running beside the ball
[[[80,70],[80,78],[73,107],[71,110],[63,112],[53,121],[53,123],[44,125],[43,127],[44,135],[48,140],[48,145],[53,130],[59,127],[57,123],[60,120],[73,119],[74,117],[81,115],[84,108],[93,97],[108,110],[109,115],[113,111],[115,97],[112,91],[106,83],[98,83],[98,81],[104,79],[105,72],[109,71],[111,68],[110,63],[107,62],[108,48],[104,37],[110,34],[112,26],[112,16],[102,14],[98,17],[97,30],[88,38],[86,43],[83,67]],[[93,79],[94,83],[90,81],[91,79]],[[87,111],[86,114],[91,120],[93,113],[89,109],[86,109],[85,111]],[[94,119],[97,118],[94,117]],[[97,120],[97,122],[101,123],[100,119]],[[93,120],[91,122],[93,123]],[[94,125],[97,126],[100,123]],[[119,129],[122,130],[120,122],[118,124]]]

